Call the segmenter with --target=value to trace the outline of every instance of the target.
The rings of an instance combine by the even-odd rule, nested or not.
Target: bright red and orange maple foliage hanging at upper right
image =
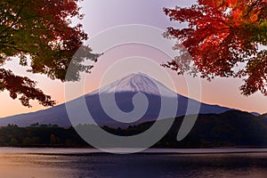
[[[174,49],[180,55],[163,66],[208,80],[243,77],[239,89],[244,95],[260,91],[267,96],[266,0],[198,0],[164,12],[187,27],[167,28],[165,36],[177,40]]]

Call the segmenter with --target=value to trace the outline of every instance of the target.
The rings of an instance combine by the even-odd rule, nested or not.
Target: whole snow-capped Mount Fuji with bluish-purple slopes
[[[140,93],[142,93],[142,96],[146,96],[146,100],[135,100],[136,98],[139,98]],[[85,102],[81,102],[84,99]],[[77,123],[81,121],[80,123],[84,124],[83,120],[86,119],[86,113],[82,110],[82,105],[83,103],[86,103],[87,109],[90,111],[90,114],[98,125],[126,127],[128,125],[138,125],[143,122],[157,119],[158,116],[160,116],[159,112],[162,107],[161,101],[165,101],[166,108],[171,108],[174,100],[177,100],[178,103],[175,117],[183,116],[186,113],[197,114],[194,112],[187,112],[189,101],[193,106],[197,106],[198,104],[200,105],[200,114],[219,114],[227,110],[231,110],[230,108],[224,108],[218,105],[209,105],[199,101],[194,101],[182,96],[181,94],[174,93],[174,91],[146,74],[137,73],[123,77],[110,85],[101,87],[99,90],[87,93],[73,101],[69,101],[67,104],[64,103],[50,109],[44,109],[32,113],[0,118],[0,126],[8,124],[28,126],[38,123],[40,125],[52,124],[69,127],[71,123],[69,121],[66,106],[73,107],[72,109],[75,110]],[[140,114],[138,113],[138,108],[142,110],[144,102],[148,103],[148,107],[142,116],[137,116]],[[167,106],[168,104],[169,106]],[[118,122],[113,119],[113,117],[110,117],[110,113],[106,113],[108,110],[109,112],[113,111],[113,113],[111,113],[112,116],[117,115],[117,110],[114,109],[114,107],[117,107],[116,109],[119,109],[120,112],[123,113],[134,112],[134,110],[136,111],[137,109],[136,117],[139,119],[137,120],[134,117],[121,117],[120,120],[125,119],[125,122]],[[164,119],[166,117],[160,117],[160,119]]]

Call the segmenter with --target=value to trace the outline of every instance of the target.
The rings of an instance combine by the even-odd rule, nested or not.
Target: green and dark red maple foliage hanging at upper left
[[[24,106],[37,100],[44,106],[55,101],[36,88],[28,77],[16,76],[4,69],[4,62],[18,60],[28,66],[28,72],[47,75],[64,82],[69,65],[72,78],[78,80],[79,72],[89,72],[99,54],[83,45],[87,35],[81,24],[71,24],[72,18],[82,19],[78,0],[1,0],[0,2],[0,92],[7,90],[12,99],[20,96]],[[75,55],[79,49],[79,55]],[[15,58],[14,58],[15,57]],[[29,59],[29,60],[28,60]],[[72,60],[73,59],[73,60]],[[28,64],[27,61],[30,61]]]

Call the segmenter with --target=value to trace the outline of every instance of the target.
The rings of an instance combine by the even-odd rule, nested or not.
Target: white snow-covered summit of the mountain
[[[99,90],[94,91],[95,93],[147,93],[153,95],[174,97],[175,94],[172,90],[162,85],[156,79],[149,77],[141,72],[134,73],[123,77],[116,82],[101,87]]]

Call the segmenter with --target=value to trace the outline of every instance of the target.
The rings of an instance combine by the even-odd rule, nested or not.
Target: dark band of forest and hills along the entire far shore
[[[190,134],[176,141],[183,117],[177,117],[168,133],[153,147],[158,148],[211,148],[211,147],[266,147],[266,117],[255,117],[237,110],[222,114],[199,115]],[[164,125],[165,120],[161,120]],[[102,129],[110,134],[130,136],[140,134],[153,122],[130,125],[128,128]],[[94,125],[77,125],[79,129],[88,129]],[[160,129],[160,128],[159,128]],[[34,124],[28,127],[7,125],[0,128],[0,146],[2,147],[90,147],[77,134],[73,127],[62,128],[58,125]]]

